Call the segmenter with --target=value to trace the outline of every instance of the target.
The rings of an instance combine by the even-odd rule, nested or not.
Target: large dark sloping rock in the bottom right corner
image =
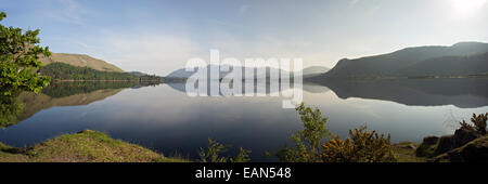
[[[435,162],[488,162],[488,136],[481,136],[470,143],[439,155]]]

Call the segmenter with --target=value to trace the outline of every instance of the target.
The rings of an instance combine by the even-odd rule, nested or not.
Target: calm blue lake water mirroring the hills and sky
[[[458,121],[488,111],[487,79],[424,79],[306,83],[304,102],[329,117],[329,129],[347,136],[368,124],[393,142],[421,142],[452,133]],[[253,150],[253,161],[301,128],[282,97],[189,97],[184,86],[56,84],[44,94],[21,94],[18,123],[0,129],[0,142],[29,146],[85,129],[141,144],[165,155],[197,158],[207,137]]]

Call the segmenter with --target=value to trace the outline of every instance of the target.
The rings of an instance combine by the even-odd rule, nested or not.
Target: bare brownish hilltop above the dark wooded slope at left
[[[110,64],[105,61],[93,58],[89,55],[85,54],[62,54],[62,53],[52,53],[51,57],[41,57],[41,63],[46,66],[51,63],[64,63],[73,66],[79,67],[89,67],[92,69],[97,69],[100,71],[117,71],[124,73],[123,69],[117,66]]]

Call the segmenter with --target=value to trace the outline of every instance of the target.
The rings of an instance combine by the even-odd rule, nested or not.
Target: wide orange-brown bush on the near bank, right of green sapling
[[[390,136],[368,132],[367,126],[349,130],[350,139],[333,139],[322,145],[320,158],[324,162],[387,162],[395,161]]]

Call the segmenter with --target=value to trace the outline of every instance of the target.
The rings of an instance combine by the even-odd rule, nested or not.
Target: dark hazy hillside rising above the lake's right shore
[[[318,78],[378,78],[476,75],[488,71],[488,43],[407,48],[389,54],[341,60]]]

